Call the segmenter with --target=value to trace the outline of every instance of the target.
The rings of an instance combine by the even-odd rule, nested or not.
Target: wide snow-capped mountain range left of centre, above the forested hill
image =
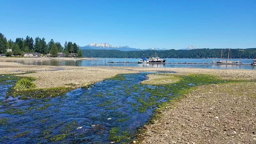
[[[86,46],[79,47],[80,49],[86,49],[86,50],[120,50],[120,51],[146,51],[146,50],[157,50],[157,51],[164,51],[167,49],[158,49],[158,48],[150,48],[150,49],[136,49],[136,48],[131,48],[129,46],[113,46],[107,43],[104,44],[88,44]]]

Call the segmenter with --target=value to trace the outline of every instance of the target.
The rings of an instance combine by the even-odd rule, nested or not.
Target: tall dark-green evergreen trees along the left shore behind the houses
[[[7,52],[7,49],[11,49],[12,52]],[[0,53],[5,53],[6,56],[11,55],[22,55],[24,52],[38,52],[42,54],[51,53],[52,56],[57,56],[58,52],[63,52],[67,55],[70,53],[76,53],[77,57],[83,57],[82,50],[76,43],[65,42],[64,47],[60,42],[54,42],[51,39],[50,42],[46,43],[45,38],[36,37],[35,40],[27,36],[25,39],[22,37],[16,38],[15,41],[12,39],[8,40],[2,33],[0,33]]]

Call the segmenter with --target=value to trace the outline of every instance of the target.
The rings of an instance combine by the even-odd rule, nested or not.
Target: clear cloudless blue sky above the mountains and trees
[[[255,48],[255,0],[6,1],[0,32],[80,46]]]

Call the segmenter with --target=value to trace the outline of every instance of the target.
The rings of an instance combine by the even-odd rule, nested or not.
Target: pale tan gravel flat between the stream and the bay
[[[15,62],[0,62],[0,74],[17,74],[27,71],[36,73],[19,76],[35,77],[37,88],[50,88],[75,84],[76,87],[93,84],[117,74],[138,72],[176,72],[176,75],[212,74],[223,79],[256,79],[255,70],[202,69],[202,68],[142,68],[142,67],[77,67],[77,66],[31,66]]]

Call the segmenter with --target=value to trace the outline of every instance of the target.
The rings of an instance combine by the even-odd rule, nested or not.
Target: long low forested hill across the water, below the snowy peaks
[[[140,58],[157,56],[160,58],[220,58],[221,49],[166,50],[166,51],[119,51],[119,50],[83,50],[84,57],[97,58]],[[228,49],[222,49],[222,58],[228,57]],[[256,48],[230,49],[229,58],[256,59]]]

